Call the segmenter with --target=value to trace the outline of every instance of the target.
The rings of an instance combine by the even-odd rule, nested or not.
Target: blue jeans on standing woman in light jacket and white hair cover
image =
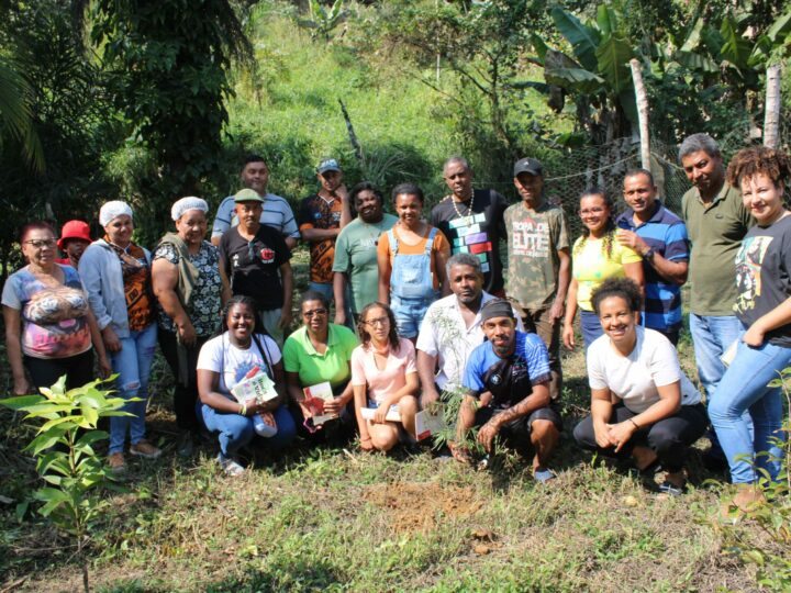
[[[119,396],[124,400],[140,398],[138,402],[127,402],[123,412],[132,416],[112,416],[110,418],[110,455],[123,452],[126,430],[130,443],[136,445],[145,438],[145,410],[148,402],[148,376],[156,351],[156,323],[137,332],[130,332],[129,337],[120,338],[121,349],[108,353],[113,372],[119,373],[116,388]]]

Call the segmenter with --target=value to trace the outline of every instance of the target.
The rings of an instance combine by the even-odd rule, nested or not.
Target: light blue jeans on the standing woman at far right
[[[781,388],[770,388],[768,383],[777,379],[778,372],[791,363],[791,348],[765,343],[753,348],[740,342],[736,358],[728,367],[709,403],[709,417],[720,439],[731,467],[733,483],[754,483],[761,477],[757,469],[764,469],[772,480],[780,472],[782,452],[769,443],[770,437],[786,439],[782,426]],[[745,419],[749,412],[753,419],[751,434],[749,422]],[[766,456],[755,457],[756,452],[768,451],[775,459]],[[738,456],[745,458],[737,459]],[[753,465],[755,459],[755,466]]]

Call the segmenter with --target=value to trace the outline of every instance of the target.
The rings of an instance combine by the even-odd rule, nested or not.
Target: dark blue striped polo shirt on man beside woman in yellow
[[[639,235],[655,253],[669,261],[689,261],[689,237],[681,219],[657,200],[657,210],[648,222],[635,225],[634,211],[628,208],[615,224]],[[659,332],[681,327],[681,287],[667,282],[650,261],[643,260],[646,284],[645,326]]]

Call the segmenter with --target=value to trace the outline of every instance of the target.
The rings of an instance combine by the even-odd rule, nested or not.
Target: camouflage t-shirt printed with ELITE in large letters
[[[566,216],[561,209],[544,202],[528,210],[524,202],[505,210],[509,272],[505,292],[523,307],[549,306],[557,293],[560,260],[557,253],[569,248]]]

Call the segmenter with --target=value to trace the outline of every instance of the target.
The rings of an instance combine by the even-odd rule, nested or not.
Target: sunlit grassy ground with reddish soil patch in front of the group
[[[304,267],[300,251],[300,286]],[[690,354],[682,343],[682,359]],[[367,455],[355,444],[303,445],[230,479],[211,447],[189,460],[175,455],[170,379],[158,361],[149,429],[165,455],[132,461],[131,493],[112,499],[88,551],[93,584],[113,592],[755,589],[753,571],[724,553],[706,518],[717,493],[701,485],[697,455],[697,486],[668,499],[571,445],[587,409],[581,355],[567,355],[564,368],[559,478],[539,486],[515,456],[476,471],[428,450]],[[19,452],[31,429],[7,411],[0,427],[0,494],[15,502],[35,484],[32,460]],[[0,505],[0,591],[80,589],[69,541],[36,516],[18,522],[13,502]]]

